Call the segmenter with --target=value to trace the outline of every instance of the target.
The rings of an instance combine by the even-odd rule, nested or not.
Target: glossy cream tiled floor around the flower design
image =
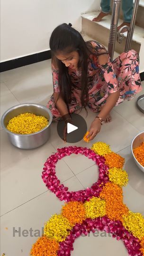
[[[46,104],[53,91],[50,60],[1,73],[1,115],[9,107],[22,102]],[[143,82],[144,85],[144,82]],[[141,92],[140,94],[143,94]],[[139,95],[140,95],[139,94]],[[138,95],[138,96],[139,96]],[[125,157],[125,169],[129,174],[129,184],[123,189],[124,202],[132,211],[144,214],[144,173],[135,165],[130,154],[130,144],[140,131],[144,130],[144,115],[133,101],[125,102],[112,111],[113,121],[102,127],[99,135],[90,144],[83,141],[76,146],[91,146],[96,141],[110,144],[115,152]],[[88,127],[94,118],[90,112],[86,118]],[[28,256],[32,244],[36,241],[38,229],[52,214],[59,213],[63,202],[52,192],[47,191],[41,179],[46,158],[64,145],[52,124],[49,142],[34,150],[20,150],[9,143],[5,131],[1,128],[1,254],[6,256]],[[72,144],[71,144],[72,145]],[[98,169],[93,162],[81,155],[63,158],[56,165],[58,178],[69,190],[76,191],[89,187],[98,179]],[[24,237],[24,229],[28,232]],[[19,230],[14,232],[13,230]],[[32,230],[31,229],[31,230]],[[108,235],[77,239],[72,256],[94,255],[126,256],[127,251],[121,241]]]

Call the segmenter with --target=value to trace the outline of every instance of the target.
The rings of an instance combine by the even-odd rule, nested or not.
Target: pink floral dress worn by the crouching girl
[[[104,48],[98,42],[90,41],[93,46],[93,54],[88,60],[88,107],[98,112],[106,103],[110,93],[120,91],[119,99],[116,103],[125,100],[130,101],[135,94],[142,90],[139,74],[139,55],[135,50],[129,50],[119,55],[113,62],[110,57],[107,64],[100,65],[98,57],[94,54],[99,49]],[[59,70],[52,65],[54,91],[59,92]],[[69,75],[72,80],[72,100],[69,104],[70,112],[77,112],[81,109],[81,71],[69,68]],[[53,119],[59,120],[61,115],[54,104],[52,95],[47,107],[53,114]]]

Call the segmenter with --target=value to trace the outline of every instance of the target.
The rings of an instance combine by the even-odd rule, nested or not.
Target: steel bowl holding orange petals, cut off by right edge
[[[135,136],[131,144],[131,150],[132,150],[133,158],[135,160],[135,164],[141,169],[142,172],[144,172],[144,167],[140,165],[140,163],[136,160],[135,155],[133,153],[133,149],[135,149],[135,147],[137,146],[140,146],[142,142],[144,142],[144,132],[141,132]]]

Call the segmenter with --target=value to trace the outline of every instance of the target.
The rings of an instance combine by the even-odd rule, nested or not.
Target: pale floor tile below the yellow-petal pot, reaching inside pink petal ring
[[[47,142],[33,150],[12,146],[5,131],[1,131],[1,215],[45,192],[41,174],[46,159],[55,151]],[[9,148],[9,154],[8,154]],[[63,181],[74,174],[63,160],[56,165],[56,175]]]

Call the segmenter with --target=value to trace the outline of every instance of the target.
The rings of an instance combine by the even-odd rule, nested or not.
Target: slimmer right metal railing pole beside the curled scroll
[[[131,19],[130,28],[129,28],[129,34],[126,37],[125,51],[128,51],[131,48],[131,43],[132,43],[132,38],[133,38],[133,34],[134,34],[135,19],[136,19],[136,13],[137,13],[138,5],[139,5],[139,0],[135,0],[134,9],[133,9],[133,15],[132,15],[132,19]]]

